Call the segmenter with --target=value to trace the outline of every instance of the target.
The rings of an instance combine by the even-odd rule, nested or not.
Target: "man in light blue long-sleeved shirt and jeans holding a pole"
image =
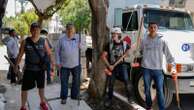
[[[56,49],[56,64],[60,68],[61,74],[61,104],[66,103],[68,96],[68,80],[72,74],[71,98],[78,99],[80,87],[80,48],[81,38],[75,34],[75,27],[72,23],[66,25],[66,34],[60,36]]]

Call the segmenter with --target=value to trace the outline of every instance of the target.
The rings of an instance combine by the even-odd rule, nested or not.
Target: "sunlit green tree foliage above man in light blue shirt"
[[[71,0],[70,3],[59,11],[62,24],[75,23],[78,31],[89,30],[91,23],[91,11],[87,0]]]

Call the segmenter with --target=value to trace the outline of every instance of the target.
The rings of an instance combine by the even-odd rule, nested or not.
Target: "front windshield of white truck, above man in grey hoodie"
[[[144,25],[156,22],[159,29],[193,30],[193,23],[189,14],[178,11],[144,9]]]

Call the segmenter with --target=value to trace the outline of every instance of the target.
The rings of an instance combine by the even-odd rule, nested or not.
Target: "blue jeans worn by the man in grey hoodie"
[[[165,110],[165,104],[164,104],[165,101],[164,101],[164,92],[163,92],[164,75],[162,70],[143,68],[143,78],[144,78],[144,88],[145,88],[147,108],[152,107],[150,86],[151,86],[151,81],[153,79],[156,85],[159,110]]]

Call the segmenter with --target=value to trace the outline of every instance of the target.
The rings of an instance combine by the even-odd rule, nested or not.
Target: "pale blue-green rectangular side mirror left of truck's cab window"
[[[122,27],[122,8],[114,9],[114,26]]]

